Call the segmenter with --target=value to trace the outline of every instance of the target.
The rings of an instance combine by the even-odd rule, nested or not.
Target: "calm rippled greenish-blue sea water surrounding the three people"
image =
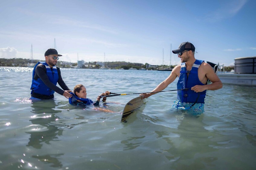
[[[106,90],[149,92],[170,72],[61,69],[71,89],[95,100]],[[138,95],[108,97],[114,113],[29,100],[32,68],[0,67],[0,169],[254,169],[256,87],[223,85],[208,91],[205,111],[172,110],[176,91],[155,94],[121,123]],[[176,89],[177,80],[166,90]]]

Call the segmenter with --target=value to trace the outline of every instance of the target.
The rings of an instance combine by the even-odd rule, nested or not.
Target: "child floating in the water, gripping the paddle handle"
[[[94,106],[99,106],[100,96],[109,95],[110,92],[106,91],[105,93],[100,94],[97,97],[97,100],[93,102],[91,99],[86,98],[87,93],[84,85],[78,84],[74,87],[74,93],[70,92],[70,94],[72,94],[73,96],[69,98],[69,103],[74,106],[86,106],[90,104],[93,104]],[[105,102],[106,99],[107,97],[103,97],[102,101]]]

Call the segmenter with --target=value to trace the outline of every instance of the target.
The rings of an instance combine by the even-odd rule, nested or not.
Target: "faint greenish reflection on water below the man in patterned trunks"
[[[157,138],[164,139],[170,148],[158,151],[173,162],[173,167],[177,169],[207,169],[218,159],[217,156],[211,156],[213,152],[219,149],[217,141],[212,140],[221,138],[221,134],[210,132],[204,127],[204,115],[194,116],[184,114],[178,116],[180,125],[177,130],[172,132],[155,131]],[[173,135],[176,134],[176,135]],[[173,137],[170,137],[173,136]]]

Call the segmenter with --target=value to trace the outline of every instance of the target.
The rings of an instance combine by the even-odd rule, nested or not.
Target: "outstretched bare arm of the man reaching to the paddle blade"
[[[155,92],[155,91],[162,91],[165,88],[167,88],[167,86],[172,83],[177,76],[180,75],[180,65],[174,67],[174,69],[172,70],[170,76],[168,76],[163,82],[161,82],[159,85],[157,85],[156,88],[154,88],[154,90],[152,90],[151,92]],[[147,94],[140,94],[140,96],[142,95],[143,98],[147,98],[152,96],[153,94],[156,93],[147,93]]]

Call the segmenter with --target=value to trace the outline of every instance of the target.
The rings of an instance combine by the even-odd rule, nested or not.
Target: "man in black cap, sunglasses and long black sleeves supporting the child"
[[[45,62],[38,62],[33,70],[31,84],[31,99],[52,99],[56,91],[66,98],[72,97],[71,90],[63,81],[60,68],[56,66],[59,60],[57,50],[50,48],[44,53]],[[57,87],[57,83],[61,88]]]

